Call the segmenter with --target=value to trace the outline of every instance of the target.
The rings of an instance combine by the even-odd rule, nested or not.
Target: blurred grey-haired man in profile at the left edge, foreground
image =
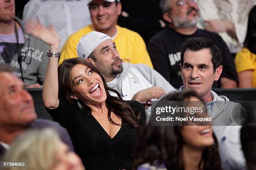
[[[46,127],[54,128],[61,140],[74,151],[66,129],[59,123],[36,117],[33,98],[25,84],[11,74],[10,67],[0,65],[0,160],[18,135]]]

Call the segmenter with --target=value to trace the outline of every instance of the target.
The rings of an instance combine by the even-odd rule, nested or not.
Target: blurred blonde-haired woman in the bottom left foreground
[[[10,145],[3,161],[19,164],[6,166],[5,170],[84,170],[81,159],[50,128],[20,135]]]

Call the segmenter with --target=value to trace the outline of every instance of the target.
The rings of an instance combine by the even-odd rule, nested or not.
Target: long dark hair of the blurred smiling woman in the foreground
[[[199,97],[193,91],[183,91],[167,95],[161,100],[184,101],[190,97]],[[133,168],[143,163],[164,165],[168,170],[184,170],[182,147],[184,140],[181,134],[182,126],[152,126],[150,123],[141,131],[138,144],[134,150]],[[218,155],[218,140],[212,133],[214,144],[205,148],[198,165],[201,170],[222,170]]]

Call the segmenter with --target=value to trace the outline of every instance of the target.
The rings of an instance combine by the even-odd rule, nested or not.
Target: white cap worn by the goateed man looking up
[[[77,45],[77,54],[79,58],[85,59],[105,40],[111,40],[110,36],[102,32],[92,31],[82,36]]]

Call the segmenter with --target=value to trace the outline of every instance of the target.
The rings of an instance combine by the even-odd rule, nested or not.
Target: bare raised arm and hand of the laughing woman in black
[[[35,20],[26,23],[26,31],[50,46],[50,52],[59,52],[60,37],[52,27],[44,27]],[[59,106],[58,57],[49,57],[43,87],[43,101],[47,108]]]

